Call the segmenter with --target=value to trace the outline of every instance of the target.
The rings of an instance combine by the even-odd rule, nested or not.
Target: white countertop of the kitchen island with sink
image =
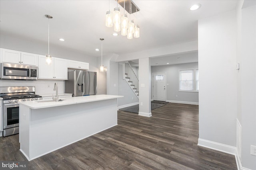
[[[40,102],[40,101],[49,101],[49,100],[37,100],[37,101],[26,101],[26,102],[18,102],[18,104],[25,105],[27,107],[30,107],[31,109],[41,109],[41,108],[47,108],[47,107],[56,107],[56,106],[64,106],[64,105],[70,105],[70,104],[79,104],[79,103],[86,103],[86,102],[95,102],[100,100],[109,100],[109,99],[116,99],[116,98],[122,98],[124,96],[114,96],[114,95],[106,95],[106,94],[100,94],[100,95],[92,95],[92,96],[78,96],[78,97],[67,97],[67,98],[61,98],[63,101],[61,102]]]

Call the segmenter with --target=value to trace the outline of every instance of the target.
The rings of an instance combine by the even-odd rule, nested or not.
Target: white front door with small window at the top
[[[153,73],[153,100],[166,101],[166,73]]]

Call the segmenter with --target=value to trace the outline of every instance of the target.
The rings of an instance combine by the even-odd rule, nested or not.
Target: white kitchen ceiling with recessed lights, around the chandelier
[[[123,54],[195,41],[199,19],[234,10],[237,3],[236,0],[133,1],[140,8],[137,14],[140,38],[137,39],[112,36],[114,28],[105,26],[108,0],[0,0],[0,34],[48,42],[48,19],[44,15],[49,14],[53,16],[50,44],[99,57],[101,53],[95,49],[100,48],[99,39],[104,38],[103,55]],[[190,11],[189,7],[197,3],[202,7]],[[116,1],[110,0],[110,9],[115,6]],[[135,19],[135,14],[131,18]]]

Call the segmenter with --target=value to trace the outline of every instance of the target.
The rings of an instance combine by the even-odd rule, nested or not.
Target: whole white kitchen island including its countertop
[[[95,95],[20,104],[20,151],[28,160],[117,125],[117,98]]]

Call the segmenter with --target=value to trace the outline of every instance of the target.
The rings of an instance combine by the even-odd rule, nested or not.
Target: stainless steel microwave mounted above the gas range
[[[37,76],[37,66],[1,63],[1,79],[37,80]]]

